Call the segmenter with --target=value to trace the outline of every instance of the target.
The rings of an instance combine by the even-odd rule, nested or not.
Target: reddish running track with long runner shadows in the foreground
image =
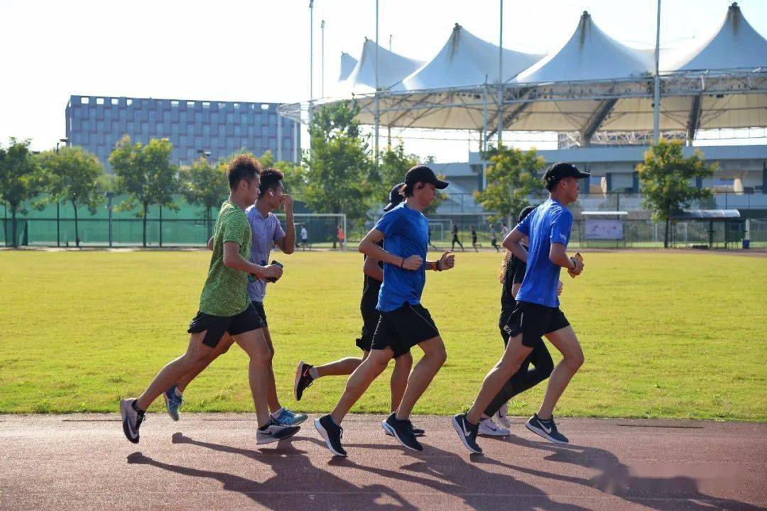
[[[259,448],[252,414],[151,414],[140,444],[114,414],[0,416],[0,509],[765,509],[767,424],[561,419],[571,444],[512,435],[469,455],[446,417],[423,453],[380,416],[344,423],[332,458],[311,419]]]

